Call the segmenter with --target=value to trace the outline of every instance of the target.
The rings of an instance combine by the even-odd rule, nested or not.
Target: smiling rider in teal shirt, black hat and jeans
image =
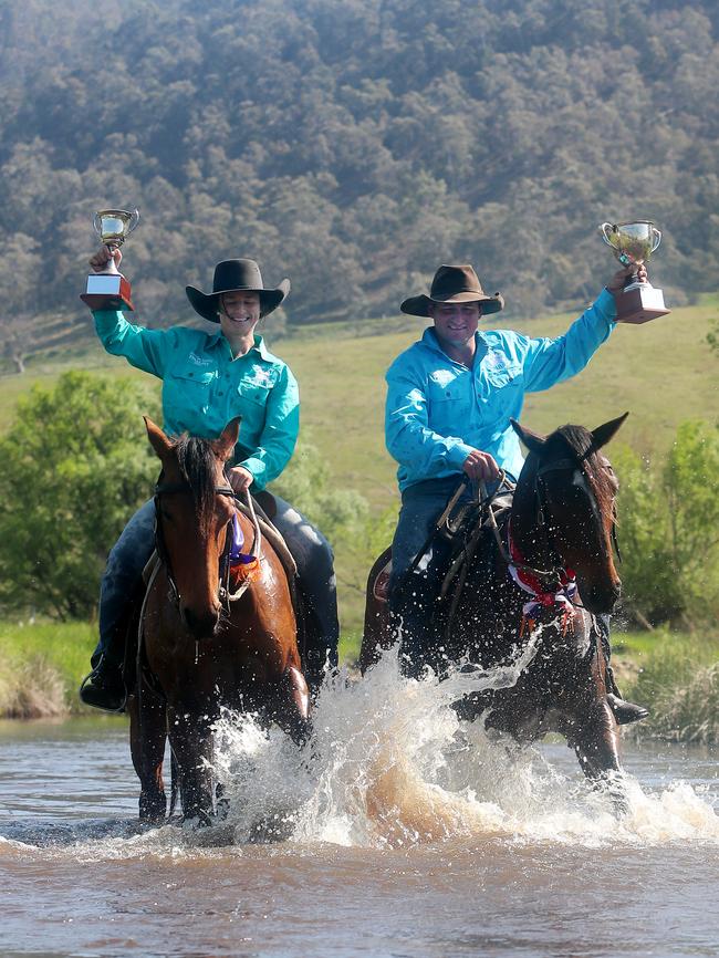
[[[90,260],[100,272],[122,253],[103,246]],[[240,437],[228,479],[236,490],[259,492],[288,465],[300,423],[298,384],[289,367],[256,334],[259,321],[275,310],[290,291],[283,280],[265,289],[254,260],[225,260],[215,268],[211,293],[187,287],[192,309],[217,333],[185,326],[147,330],[123,313],[94,311],[95,329],[105,350],[163,381],[165,431],[217,438],[227,423],[241,416]],[[298,566],[305,605],[306,663],[310,687],[321,680],[325,663],[337,663],[337,601],[332,550],[322,533],[278,496],[273,522]],[[111,711],[123,708],[125,687],[124,622],[128,598],[139,584],[155,546],[155,507],[146,502],[129,520],[107,559],[100,596],[100,642],[92,671],[80,689],[86,705]]]

